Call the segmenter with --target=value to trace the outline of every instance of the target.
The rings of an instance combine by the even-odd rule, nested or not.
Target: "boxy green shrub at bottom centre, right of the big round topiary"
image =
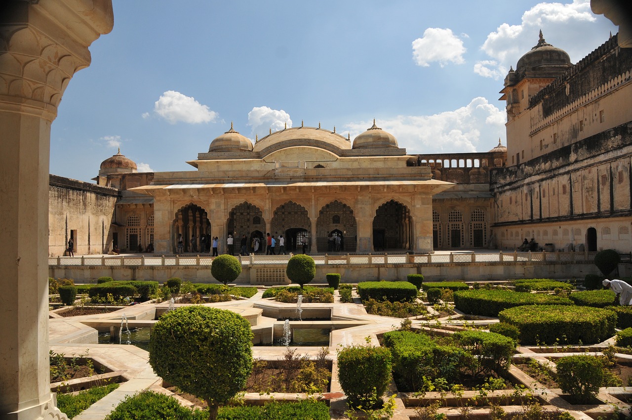
[[[338,380],[350,407],[373,408],[389,384],[391,359],[385,347],[352,345],[338,351]]]

